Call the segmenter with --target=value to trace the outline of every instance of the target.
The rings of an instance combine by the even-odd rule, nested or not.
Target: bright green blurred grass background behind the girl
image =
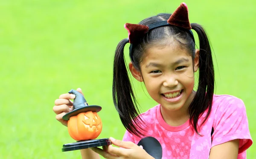
[[[52,111],[60,94],[78,87],[89,104],[102,106],[99,138],[122,139],[111,87],[114,50],[128,36],[123,25],[171,13],[181,2],[0,0],[0,159],[79,159],[79,151],[61,152],[74,140]],[[244,100],[254,139],[256,2],[185,2],[190,22],[202,24],[212,42],[216,93]],[[153,107],[142,85],[134,84],[142,111]],[[255,151],[253,145],[247,158],[256,158]]]

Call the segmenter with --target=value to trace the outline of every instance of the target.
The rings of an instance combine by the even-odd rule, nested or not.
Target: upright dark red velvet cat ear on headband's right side
[[[189,23],[189,10],[186,3],[181,3],[180,6],[173,12],[167,22],[174,26],[179,26],[185,29],[191,29]]]

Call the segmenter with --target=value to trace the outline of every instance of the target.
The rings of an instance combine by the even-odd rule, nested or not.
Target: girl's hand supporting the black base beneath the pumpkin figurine
[[[103,146],[103,149],[98,147],[90,148],[99,155],[103,156],[105,159],[154,159],[150,156],[143,147],[140,147],[133,142],[124,142],[121,140],[116,140],[110,137],[113,145],[122,147],[113,147],[112,145]]]

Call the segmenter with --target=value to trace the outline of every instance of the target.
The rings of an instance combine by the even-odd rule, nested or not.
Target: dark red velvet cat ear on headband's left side
[[[128,30],[129,43],[136,43],[148,32],[148,26],[140,24],[125,23],[125,29]]]

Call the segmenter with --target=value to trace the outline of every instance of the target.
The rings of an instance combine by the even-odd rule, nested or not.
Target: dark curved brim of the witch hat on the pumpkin
[[[62,119],[63,120],[69,120],[71,116],[76,116],[79,113],[85,113],[85,112],[89,112],[89,111],[98,113],[100,110],[102,110],[102,107],[100,107],[98,105],[89,105],[89,106],[86,106],[86,107],[80,107],[80,108],[77,108],[77,109],[72,110],[71,112],[65,114],[62,117]]]

